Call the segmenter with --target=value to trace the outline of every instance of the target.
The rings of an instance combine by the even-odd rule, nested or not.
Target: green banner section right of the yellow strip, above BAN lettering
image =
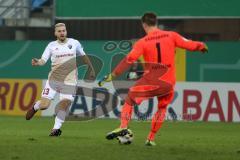
[[[209,53],[187,54],[187,81],[240,82],[240,42],[209,42]]]

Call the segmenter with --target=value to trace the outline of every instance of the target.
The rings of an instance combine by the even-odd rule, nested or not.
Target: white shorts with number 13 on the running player
[[[45,87],[42,91],[42,97],[43,98],[47,98],[47,99],[54,99],[56,93],[59,93],[59,99],[63,100],[63,99],[69,99],[71,101],[74,100],[75,97],[75,87],[73,84],[71,84],[71,86],[73,87],[65,87],[66,84],[60,84],[60,83],[52,83],[51,82],[51,86],[49,84],[49,80],[47,80]],[[68,91],[71,90],[71,91]]]

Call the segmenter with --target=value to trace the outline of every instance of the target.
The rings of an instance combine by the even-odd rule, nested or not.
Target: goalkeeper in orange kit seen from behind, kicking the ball
[[[166,108],[174,96],[175,77],[175,49],[176,47],[190,51],[208,51],[206,44],[188,40],[176,32],[163,31],[157,28],[157,16],[154,13],[145,13],[142,16],[142,26],[146,36],[138,40],[130,53],[117,65],[113,72],[99,82],[112,81],[122,74],[140,56],[144,57],[144,74],[134,86],[130,87],[121,111],[120,127],[108,133],[107,139],[114,139],[127,133],[133,106],[143,100],[157,96],[158,110],[152,118],[151,131],[148,134],[146,145],[154,146],[154,137],[165,119]]]

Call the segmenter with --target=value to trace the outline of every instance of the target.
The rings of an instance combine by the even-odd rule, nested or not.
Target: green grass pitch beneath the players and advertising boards
[[[0,160],[226,160],[240,159],[240,124],[165,122],[157,146],[144,146],[150,122],[132,121],[131,145],[108,141],[119,121],[67,121],[61,137],[49,137],[53,118],[0,117]]]

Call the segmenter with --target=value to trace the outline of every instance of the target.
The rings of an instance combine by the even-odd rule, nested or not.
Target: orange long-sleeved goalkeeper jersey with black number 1
[[[135,43],[130,53],[113,70],[113,74],[120,75],[143,55],[145,63],[161,63],[167,66],[168,71],[161,77],[155,78],[174,85],[176,81],[174,62],[176,47],[201,51],[204,49],[204,43],[187,40],[176,32],[154,29]],[[154,75],[154,72],[151,74]]]

